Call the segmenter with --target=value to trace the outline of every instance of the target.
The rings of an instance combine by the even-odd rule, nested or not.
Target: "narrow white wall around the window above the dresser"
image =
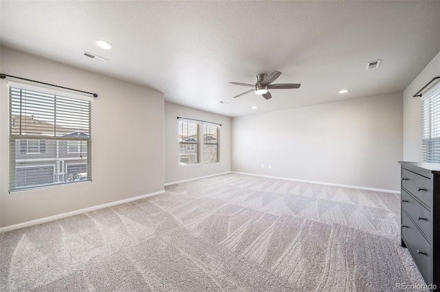
[[[421,101],[420,97],[412,97],[412,95],[437,76],[440,76],[440,52],[404,90],[404,160],[406,161],[422,160]],[[437,82],[432,83],[434,84]]]

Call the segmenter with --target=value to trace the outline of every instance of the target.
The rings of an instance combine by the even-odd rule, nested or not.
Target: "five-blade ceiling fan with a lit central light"
[[[256,75],[256,84],[246,84],[246,83],[238,83],[238,82],[229,82],[229,84],[254,87],[253,89],[248,90],[245,93],[241,93],[239,95],[234,96],[234,98],[241,97],[241,95],[245,95],[246,93],[250,93],[251,91],[254,91],[255,94],[257,95],[263,95],[265,99],[272,98],[269,89],[292,89],[292,88],[299,88],[301,86],[301,84],[294,84],[294,83],[271,84],[276,80],[276,78],[280,77],[280,75],[281,75],[280,71],[274,71],[269,75],[266,74]]]

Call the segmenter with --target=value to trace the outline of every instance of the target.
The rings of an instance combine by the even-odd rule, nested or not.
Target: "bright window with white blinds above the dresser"
[[[440,162],[440,86],[422,101],[423,161]]]

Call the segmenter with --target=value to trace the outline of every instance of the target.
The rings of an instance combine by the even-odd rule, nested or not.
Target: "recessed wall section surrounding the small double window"
[[[179,121],[177,117],[220,123],[218,163],[179,165]],[[201,148],[202,149],[202,148]],[[230,117],[165,103],[165,183],[189,180],[230,171]]]

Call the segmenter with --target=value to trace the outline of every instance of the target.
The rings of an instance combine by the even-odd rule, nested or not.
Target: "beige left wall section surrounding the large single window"
[[[93,182],[8,193],[8,79],[0,81],[1,227],[164,190],[162,93],[7,47],[0,62],[1,73],[99,95],[92,105]]]

